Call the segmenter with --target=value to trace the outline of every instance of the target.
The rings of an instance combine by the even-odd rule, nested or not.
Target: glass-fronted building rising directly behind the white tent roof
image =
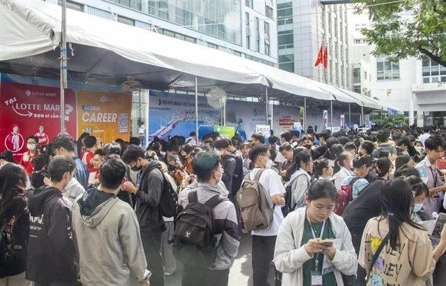
[[[67,7],[277,65],[275,0],[70,0]]]

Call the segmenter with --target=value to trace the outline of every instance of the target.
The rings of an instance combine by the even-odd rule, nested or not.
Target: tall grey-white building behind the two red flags
[[[351,89],[346,1],[277,0],[279,68]],[[314,66],[323,46],[328,67]]]

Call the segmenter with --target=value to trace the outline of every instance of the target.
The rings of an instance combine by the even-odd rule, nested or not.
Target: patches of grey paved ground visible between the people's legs
[[[183,267],[178,265],[178,270],[172,276],[166,276],[166,286],[180,286]],[[274,269],[270,267],[268,276],[270,285],[274,285]],[[240,240],[238,255],[229,272],[229,286],[252,286],[251,266],[251,236],[243,234]],[[199,286],[199,285],[197,285]]]

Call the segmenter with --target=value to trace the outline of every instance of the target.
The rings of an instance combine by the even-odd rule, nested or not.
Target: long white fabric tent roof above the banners
[[[56,77],[61,7],[30,0],[0,4],[0,70]],[[67,42],[73,44],[73,50],[68,48],[69,76],[80,82],[119,85],[132,76],[150,89],[193,91],[197,76],[201,92],[219,85],[228,93],[259,96],[269,86],[268,96],[277,100],[306,96],[383,106],[263,63],[70,9]]]

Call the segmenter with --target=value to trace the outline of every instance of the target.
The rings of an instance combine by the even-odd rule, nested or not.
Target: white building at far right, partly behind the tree
[[[353,90],[403,110],[406,123],[446,124],[446,67],[422,57],[391,62],[365,42],[360,29],[371,27],[369,15],[348,14]]]

